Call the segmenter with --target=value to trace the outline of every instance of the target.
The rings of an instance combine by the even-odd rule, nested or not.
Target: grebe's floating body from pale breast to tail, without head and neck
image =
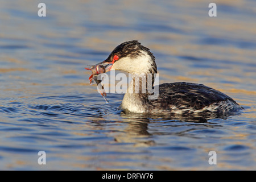
[[[132,113],[226,114],[242,109],[226,94],[202,84],[175,82],[161,84],[155,100],[147,94],[126,93],[120,108]]]

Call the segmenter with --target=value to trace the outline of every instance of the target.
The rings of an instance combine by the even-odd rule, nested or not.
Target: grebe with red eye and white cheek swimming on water
[[[139,75],[154,75],[154,73],[157,73],[155,56],[150,52],[150,49],[142,46],[137,40],[120,44],[114,48],[105,61],[96,65],[101,65],[101,67],[105,68],[102,69],[102,72],[98,72],[97,69],[97,73],[111,70],[131,73],[133,80],[129,84],[127,91],[134,90],[134,79]],[[154,76],[152,80],[147,84],[152,84],[151,86],[153,86]],[[202,84],[174,82],[158,85],[158,89],[159,94],[156,99],[148,99],[152,95],[152,93],[148,92],[125,93],[119,109],[130,113],[146,114],[194,114],[205,112],[228,114],[243,109],[226,94]]]

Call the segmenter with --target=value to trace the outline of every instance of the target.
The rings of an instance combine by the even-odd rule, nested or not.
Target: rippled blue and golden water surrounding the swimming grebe
[[[256,3],[5,1],[0,7],[0,169],[256,169]],[[228,94],[228,118],[123,114],[89,64],[127,40],[151,49],[159,82]],[[46,152],[46,165],[38,152]],[[217,164],[208,163],[216,151]]]

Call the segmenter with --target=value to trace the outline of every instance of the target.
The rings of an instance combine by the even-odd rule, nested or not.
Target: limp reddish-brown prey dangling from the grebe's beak
[[[109,101],[106,98],[106,92],[105,92],[104,86],[101,85],[101,82],[103,80],[98,80],[98,75],[106,72],[104,65],[96,64],[90,68],[85,68],[85,69],[92,71],[92,75],[89,77],[90,84],[92,85],[94,84],[94,82],[96,82],[98,89],[100,90],[101,96],[105,99],[106,103],[108,104]]]

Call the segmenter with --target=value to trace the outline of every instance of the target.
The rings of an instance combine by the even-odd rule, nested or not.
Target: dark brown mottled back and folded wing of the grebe
[[[209,88],[202,84],[187,82],[175,82],[172,84],[159,85],[159,97],[152,100],[152,105],[159,105],[162,108],[193,108],[195,110],[214,104],[219,101],[232,101],[226,94]]]

